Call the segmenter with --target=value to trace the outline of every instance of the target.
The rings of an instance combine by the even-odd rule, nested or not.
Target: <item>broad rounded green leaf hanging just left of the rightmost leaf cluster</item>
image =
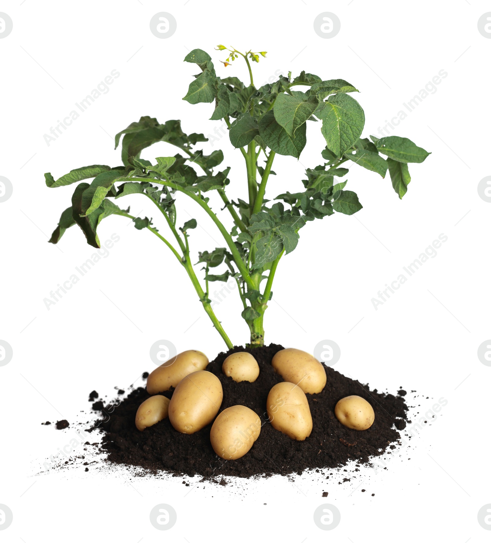
[[[323,104],[323,109],[316,112],[322,119],[320,131],[328,148],[341,157],[360,137],[365,115],[360,104],[348,94],[334,94]]]

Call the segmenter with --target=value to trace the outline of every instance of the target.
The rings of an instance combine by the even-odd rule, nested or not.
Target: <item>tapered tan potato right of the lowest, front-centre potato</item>
[[[271,426],[297,441],[312,432],[312,415],[307,396],[293,383],[277,383],[269,391],[266,403]]]

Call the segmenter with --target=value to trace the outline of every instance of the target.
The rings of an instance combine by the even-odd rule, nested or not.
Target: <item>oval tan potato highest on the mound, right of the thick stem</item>
[[[273,356],[271,365],[285,381],[298,384],[306,394],[317,394],[326,386],[324,366],[308,352],[283,349]]]

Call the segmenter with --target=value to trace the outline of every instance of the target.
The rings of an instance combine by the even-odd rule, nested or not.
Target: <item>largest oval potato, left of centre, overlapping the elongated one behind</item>
[[[194,371],[175,387],[169,403],[169,420],[178,432],[193,434],[210,424],[222,400],[218,377],[209,371]]]

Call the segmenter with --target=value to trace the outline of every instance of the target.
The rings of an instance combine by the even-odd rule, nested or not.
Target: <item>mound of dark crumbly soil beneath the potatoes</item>
[[[377,393],[376,389],[370,391],[368,385],[327,367],[324,390],[319,394],[307,394],[313,421],[310,437],[305,441],[293,441],[275,430],[267,419],[266,399],[274,384],[282,381],[271,366],[274,354],[281,349],[281,345],[275,344],[260,349],[236,347],[221,352],[206,368],[222,382],[221,409],[244,405],[253,409],[263,421],[259,438],[242,458],[225,461],[215,454],[210,444],[211,425],[187,435],[175,431],[169,419],[165,419],[143,432],[138,431],[136,410],[149,395],[146,389],[137,388],[121,403],[104,406],[99,400],[93,405],[93,409],[101,411],[104,417],[96,427],[103,433],[101,446],[108,453],[109,462],[140,466],[152,472],[164,470],[176,475],[201,475],[206,479],[222,475],[301,474],[306,469],[337,468],[349,460],[368,463],[370,457],[379,456],[400,438],[394,426],[400,429],[403,424],[405,426],[407,407],[403,396]],[[259,364],[260,374],[254,383],[236,383],[222,374],[224,359],[239,351],[251,352]],[[368,430],[350,430],[334,415],[337,401],[352,394],[362,396],[375,411],[375,422]],[[163,395],[170,398],[172,391]]]

